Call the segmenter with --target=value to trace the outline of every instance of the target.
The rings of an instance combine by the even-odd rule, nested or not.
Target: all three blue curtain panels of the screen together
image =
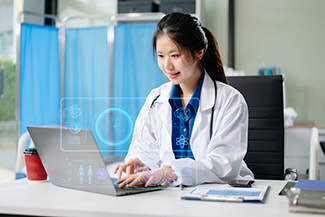
[[[61,124],[72,133],[90,129],[101,150],[124,156],[146,96],[165,82],[152,53],[155,29],[155,24],[115,27],[112,80],[107,27],[66,29],[60,101],[58,29],[23,24],[21,132],[26,125]]]

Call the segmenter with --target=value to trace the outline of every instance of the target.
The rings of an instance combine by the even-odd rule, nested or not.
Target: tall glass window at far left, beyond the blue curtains
[[[0,1],[0,63],[4,96],[0,101],[0,184],[14,180],[16,159],[15,72],[13,65],[13,1]]]

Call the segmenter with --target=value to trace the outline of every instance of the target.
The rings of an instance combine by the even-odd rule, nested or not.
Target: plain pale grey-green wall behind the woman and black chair
[[[324,0],[235,0],[235,68],[256,75],[263,62],[280,67],[296,123],[325,124],[324,8]],[[205,0],[204,10],[227,57],[228,0]]]

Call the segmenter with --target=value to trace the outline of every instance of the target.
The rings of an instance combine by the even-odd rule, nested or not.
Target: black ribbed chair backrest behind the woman
[[[249,111],[245,162],[256,179],[284,179],[283,77],[228,77]]]

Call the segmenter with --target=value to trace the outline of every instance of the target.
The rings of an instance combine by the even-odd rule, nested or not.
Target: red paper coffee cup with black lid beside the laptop
[[[36,148],[28,148],[24,151],[27,170],[27,179],[29,181],[45,181],[47,173],[42,161],[38,156]]]

